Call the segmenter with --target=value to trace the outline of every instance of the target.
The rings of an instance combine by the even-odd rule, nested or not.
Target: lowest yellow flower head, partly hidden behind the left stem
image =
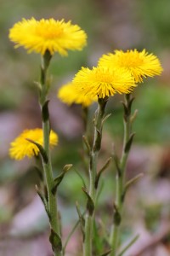
[[[37,146],[27,139],[43,145],[42,129],[25,130],[19,137],[16,137],[14,142],[10,143],[9,155],[15,160],[22,160],[25,156],[31,158],[39,153]],[[49,137],[50,146],[54,146],[58,143],[58,136],[54,131],[50,132]]]

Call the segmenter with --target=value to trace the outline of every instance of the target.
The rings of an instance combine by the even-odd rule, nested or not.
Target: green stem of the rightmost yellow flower
[[[117,255],[117,247],[119,245],[119,235],[120,235],[120,225],[122,219],[122,207],[124,201],[124,190],[125,190],[125,174],[127,166],[127,157],[130,151],[130,148],[126,150],[127,142],[130,138],[131,133],[131,96],[125,95],[124,102],[124,135],[123,135],[123,147],[122,147],[122,157],[120,160],[120,171],[116,172],[116,209],[119,214],[120,221],[115,222],[111,227],[111,256]]]

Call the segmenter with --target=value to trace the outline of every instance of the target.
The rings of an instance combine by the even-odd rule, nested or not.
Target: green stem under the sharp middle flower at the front
[[[95,180],[97,174],[97,160],[101,145],[102,139],[102,120],[105,114],[105,105],[107,98],[99,99],[98,109],[95,113],[94,119],[94,142],[90,152],[90,163],[88,169],[89,175],[89,196],[94,202],[94,211],[89,211],[87,209],[86,218],[85,218],[85,240],[83,245],[83,256],[92,256],[93,255],[93,238],[94,238],[94,212],[95,212],[95,197],[96,190]],[[88,207],[87,207],[88,208]]]

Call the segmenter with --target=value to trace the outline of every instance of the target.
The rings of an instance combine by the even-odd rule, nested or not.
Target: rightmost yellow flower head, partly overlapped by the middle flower
[[[116,50],[115,54],[103,55],[99,59],[99,66],[124,67],[132,73],[135,83],[141,83],[143,78],[154,77],[162,72],[161,63],[156,55],[148,54],[145,49],[140,52],[137,49],[126,52]]]

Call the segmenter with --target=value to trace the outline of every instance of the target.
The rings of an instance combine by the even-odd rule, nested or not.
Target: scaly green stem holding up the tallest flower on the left
[[[53,234],[52,236],[54,236],[54,234],[57,234],[57,236],[60,236],[57,200],[56,200],[56,196],[52,193],[52,189],[54,186],[54,177],[53,177],[53,170],[51,165],[51,154],[49,150],[50,125],[49,125],[48,114],[46,114],[45,115],[46,118],[44,118],[44,113],[43,113],[44,111],[43,107],[45,102],[47,101],[47,95],[48,95],[47,71],[48,71],[48,65],[49,65],[50,59],[51,59],[51,55],[47,51],[42,58],[42,73],[41,73],[42,90],[40,94],[40,105],[42,109],[43,147],[48,156],[48,163],[43,163],[43,171],[44,171],[45,183],[46,183],[47,192],[48,192],[48,212],[49,212],[49,223],[52,230],[51,234]],[[48,110],[46,109],[46,111]],[[56,241],[54,237],[52,237],[51,239],[52,247],[54,250],[54,256],[61,256],[62,252],[60,247],[57,247],[53,241]]]

